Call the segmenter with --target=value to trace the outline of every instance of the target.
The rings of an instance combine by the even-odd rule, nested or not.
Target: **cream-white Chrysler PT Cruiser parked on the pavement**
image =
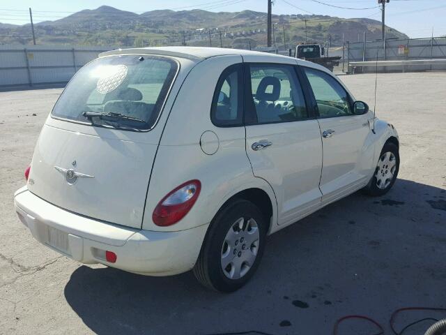
[[[230,292],[266,236],[357,190],[383,195],[399,137],[300,59],[205,47],[100,54],[72,78],[15,193],[33,237],[78,262]]]

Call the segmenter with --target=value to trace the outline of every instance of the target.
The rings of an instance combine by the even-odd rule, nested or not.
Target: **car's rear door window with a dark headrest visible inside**
[[[298,121],[308,117],[293,66],[251,65],[249,69],[251,105],[259,124]]]

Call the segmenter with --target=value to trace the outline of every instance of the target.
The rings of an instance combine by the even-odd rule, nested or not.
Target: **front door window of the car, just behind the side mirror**
[[[304,68],[304,70],[312,86],[320,117],[353,115],[350,98],[337,80],[313,68]]]

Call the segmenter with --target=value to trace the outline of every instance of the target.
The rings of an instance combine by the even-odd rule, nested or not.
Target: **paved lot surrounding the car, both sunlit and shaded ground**
[[[374,75],[341,79],[373,107]],[[231,295],[204,290],[190,273],[79,265],[34,241],[13,192],[61,89],[0,93],[0,334],[331,334],[347,314],[391,334],[396,308],[446,307],[446,73],[381,74],[378,87],[378,117],[401,135],[393,190],[351,195],[272,235],[253,281]],[[404,313],[397,327],[426,316],[446,313]],[[367,322],[340,330],[376,333]]]

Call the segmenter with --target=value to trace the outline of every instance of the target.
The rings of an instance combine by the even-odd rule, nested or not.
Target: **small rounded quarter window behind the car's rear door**
[[[243,125],[243,84],[241,65],[223,71],[217,83],[210,118],[215,126]]]

